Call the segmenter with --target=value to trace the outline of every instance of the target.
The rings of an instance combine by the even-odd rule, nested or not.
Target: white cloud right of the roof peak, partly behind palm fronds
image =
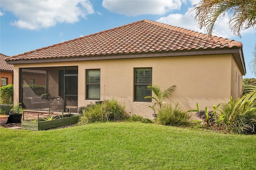
[[[177,26],[181,28],[186,28],[188,30],[193,30],[196,32],[202,32],[206,33],[205,30],[200,30],[198,27],[198,22],[194,20],[195,11],[191,11],[192,8],[188,8],[188,11],[182,15],[182,14],[170,14],[166,17],[161,17],[157,20],[157,22],[161,22],[164,24],[169,24],[172,26]],[[229,17],[224,16],[219,19],[218,22],[215,23],[213,33],[212,35],[223,37],[223,38],[232,38],[234,37],[234,34],[230,30],[229,26]],[[248,30],[242,31],[242,34],[253,32],[254,30],[252,28]]]

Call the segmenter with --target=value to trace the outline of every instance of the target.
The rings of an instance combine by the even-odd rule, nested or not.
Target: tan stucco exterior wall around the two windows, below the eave
[[[127,113],[152,118],[152,103],[133,102],[133,71],[135,67],[152,67],[152,83],[162,89],[176,85],[172,102],[178,102],[188,111],[227,102],[235,94],[234,71],[241,75],[232,55],[200,55],[181,57],[155,57],[63,63],[36,63],[14,65],[14,80],[18,80],[18,67],[57,67],[78,65],[78,107],[95,101],[85,100],[86,69],[100,69],[101,100],[117,98],[126,105]],[[242,79],[242,75],[241,75]],[[241,80],[242,82],[242,80]],[[18,83],[15,82],[15,97]],[[242,87],[242,85],[241,85]],[[236,92],[237,93],[237,92]],[[16,100],[16,99],[15,99]],[[14,101],[15,101],[14,100]]]

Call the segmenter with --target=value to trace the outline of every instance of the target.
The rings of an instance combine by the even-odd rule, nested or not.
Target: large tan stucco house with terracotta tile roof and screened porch
[[[6,61],[14,65],[14,101],[26,100],[22,92],[23,84],[28,83],[22,81],[25,70],[41,70],[46,71],[50,105],[54,99],[61,100],[59,110],[76,112],[78,107],[114,97],[126,105],[127,113],[148,118],[153,101],[144,97],[152,94],[147,88],[150,84],[162,89],[176,85],[172,102],[186,111],[195,109],[197,102],[203,109],[227,102],[230,96],[237,99],[246,73],[242,43],[151,20],[14,55]]]

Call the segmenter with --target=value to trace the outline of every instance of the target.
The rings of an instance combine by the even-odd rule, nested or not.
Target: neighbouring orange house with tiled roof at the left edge
[[[0,87],[8,84],[13,84],[13,65],[7,64],[4,60],[6,57],[10,57],[0,53]]]

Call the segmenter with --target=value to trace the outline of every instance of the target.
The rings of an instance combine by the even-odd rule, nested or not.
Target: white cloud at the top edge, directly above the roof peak
[[[102,6],[109,12],[126,16],[163,15],[180,9],[182,2],[184,0],[103,0]]]

